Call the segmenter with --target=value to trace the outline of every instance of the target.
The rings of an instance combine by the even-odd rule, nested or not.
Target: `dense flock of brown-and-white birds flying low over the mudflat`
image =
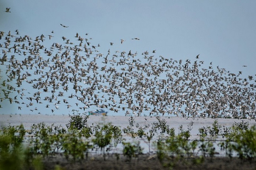
[[[182,61],[155,56],[156,50],[103,54],[100,44],[78,33],[75,42],[63,36],[62,43],[45,47],[53,31],[47,38],[15,32],[0,31],[0,71],[6,75],[0,80],[0,100],[18,110],[39,112],[43,106],[49,112],[59,107],[85,112],[94,107],[125,115],[255,119],[255,77],[215,69],[212,63],[204,67],[199,55]]]

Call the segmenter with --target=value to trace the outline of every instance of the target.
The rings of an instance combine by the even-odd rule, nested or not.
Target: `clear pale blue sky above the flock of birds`
[[[200,54],[205,63],[248,77],[256,74],[255,6],[251,0],[1,0],[0,31],[18,29],[30,37],[54,31],[49,43],[87,33],[101,53],[156,50],[156,55],[184,61]],[[131,40],[135,37],[140,40]]]

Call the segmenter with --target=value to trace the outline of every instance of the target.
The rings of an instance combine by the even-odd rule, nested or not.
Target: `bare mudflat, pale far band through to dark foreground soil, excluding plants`
[[[115,126],[119,126],[121,129],[130,125],[128,116],[94,116],[91,115],[88,118],[88,125],[93,124],[105,124],[111,123]],[[152,125],[157,121],[156,117],[133,117],[135,124]],[[179,133],[180,125],[184,129],[193,122],[190,139],[199,139],[198,129],[201,127],[211,126],[216,119],[212,118],[180,118],[180,117],[161,117],[165,119],[167,125],[170,128],[175,129],[175,133]],[[0,115],[0,126],[18,126],[23,124],[26,130],[30,130],[31,125],[44,122],[46,125],[61,125],[66,127],[69,123],[70,117],[68,115]],[[218,124],[225,127],[231,127],[235,122],[248,122],[249,126],[255,125],[254,120],[247,119],[224,119],[218,118]],[[134,127],[136,130],[136,127]],[[143,154],[138,157],[129,160],[122,154],[123,147],[118,145],[117,148],[113,148],[106,156],[106,160],[103,160],[103,156],[100,152],[92,151],[89,153],[87,159],[82,161],[72,162],[67,160],[63,155],[56,154],[47,158],[42,158],[43,169],[66,169],[66,170],[82,170],[82,169],[256,169],[255,162],[249,163],[247,160],[241,160],[237,157],[230,159],[226,157],[225,153],[221,153],[220,149],[216,149],[219,152],[215,157],[204,157],[201,160],[200,155],[196,157],[188,157],[182,159],[176,159],[175,157],[165,159],[160,162],[154,146],[150,146],[151,153],[149,154],[148,142],[146,140],[135,137],[132,139],[128,134],[122,133],[123,138],[126,141],[140,141],[140,145],[143,148]],[[156,134],[152,141],[158,138],[159,134]],[[221,139],[219,139],[221,140]],[[218,141],[218,139],[216,140]],[[215,142],[217,146],[217,142]],[[199,163],[200,162],[200,163]]]

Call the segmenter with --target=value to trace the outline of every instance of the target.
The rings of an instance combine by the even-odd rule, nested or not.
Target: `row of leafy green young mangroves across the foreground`
[[[48,126],[45,123],[33,124],[30,130],[25,130],[22,124],[2,127],[0,169],[37,169],[36,167],[41,166],[42,158],[57,154],[70,162],[76,162],[87,160],[90,152],[97,154],[100,151],[103,160],[107,160],[106,155],[118,144],[123,145],[123,156],[131,161],[142,154],[143,148],[138,140],[126,142],[122,132],[132,138],[144,140],[148,144],[149,153],[152,153],[153,148],[164,166],[173,165],[175,160],[192,158],[194,163],[202,163],[206,157],[213,158],[217,154],[214,143],[225,151],[230,160],[237,156],[241,161],[255,162],[256,127],[249,127],[248,122],[244,121],[225,127],[215,120],[211,126],[199,128],[199,139],[192,140],[192,121],[187,129],[181,125],[179,132],[175,134],[174,128],[170,128],[165,119],[160,117],[151,125],[135,124],[134,118],[130,117],[129,126],[121,129],[111,123],[89,126],[89,116],[86,115],[73,113],[69,116],[66,127],[54,124]],[[156,140],[152,141],[154,136]],[[115,155],[118,160],[120,154]]]

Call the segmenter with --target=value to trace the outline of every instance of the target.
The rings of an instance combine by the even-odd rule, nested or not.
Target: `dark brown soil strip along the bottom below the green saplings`
[[[119,157],[119,159],[117,159]],[[131,161],[123,155],[112,154],[103,160],[102,155],[91,155],[87,160],[67,161],[64,157],[56,156],[43,159],[43,169],[63,169],[63,170],[83,170],[83,169],[256,169],[256,163],[249,163],[249,161],[241,161],[239,158],[228,157],[206,157],[200,159],[183,158],[177,160],[175,158],[164,160],[162,163],[158,160],[156,155],[140,155],[138,158],[133,158]]]

